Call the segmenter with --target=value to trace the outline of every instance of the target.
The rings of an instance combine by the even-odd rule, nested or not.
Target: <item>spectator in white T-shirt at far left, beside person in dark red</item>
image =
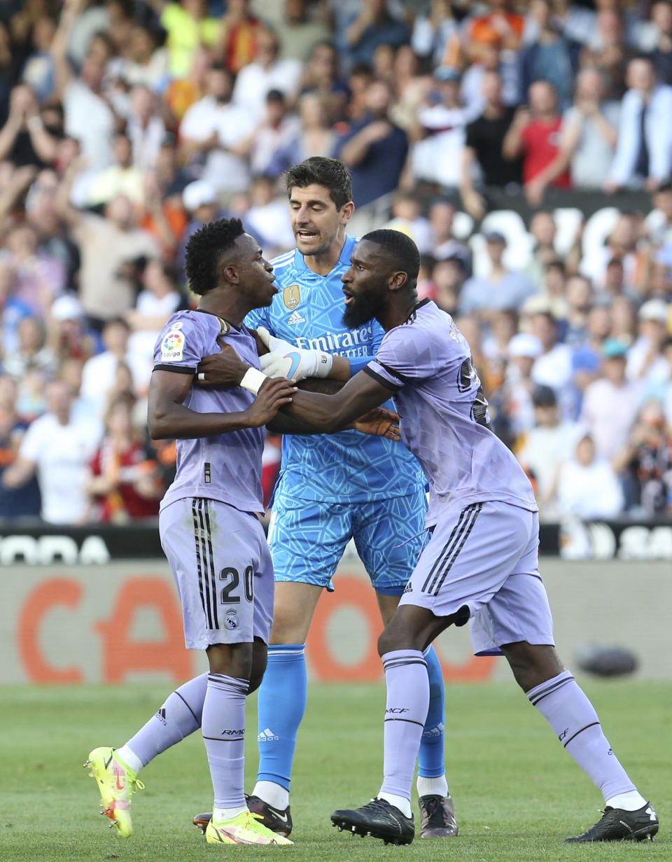
[[[48,412],[28,428],[18,458],[3,473],[6,488],[21,487],[37,473],[41,517],[52,524],[86,521],[88,466],[103,433],[100,423],[76,419],[71,406],[67,385],[60,381],[49,384]]]

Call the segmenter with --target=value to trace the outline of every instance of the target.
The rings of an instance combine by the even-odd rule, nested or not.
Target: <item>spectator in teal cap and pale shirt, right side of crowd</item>
[[[615,458],[623,451],[641,402],[641,386],[625,377],[625,346],[607,339],[602,349],[601,377],[588,385],[580,421],[588,428],[600,455]]]

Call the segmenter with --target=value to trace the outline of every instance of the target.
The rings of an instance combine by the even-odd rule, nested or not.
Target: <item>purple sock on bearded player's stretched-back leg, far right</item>
[[[607,799],[637,790],[602,732],[594,706],[569,671],[526,692],[551,725],[566,752]]]

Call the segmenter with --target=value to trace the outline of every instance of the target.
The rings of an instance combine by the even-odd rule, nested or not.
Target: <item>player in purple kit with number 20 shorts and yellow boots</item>
[[[255,514],[264,510],[264,425],[295,391],[259,370],[257,342],[243,325],[277,293],[272,270],[240,220],[204,225],[186,252],[198,308],[172,315],[155,348],[149,429],[154,439],[177,439],[177,474],[161,503],[159,534],[183,606],[186,646],[207,652],[209,673],[173,691],[126,745],[90,752],[84,765],[101,792],[101,814],[121,837],[132,832],[131,796],[144,786],[138,771],[201,728],[215,790],[208,843],[293,843],[251,814],[243,792],[246,695],[264,675],[273,613],[271,555]],[[202,357],[224,345],[247,364],[241,386],[194,386]],[[309,433],[302,422],[278,422],[283,432]],[[383,426],[374,432],[356,425],[368,433],[384,433]]]

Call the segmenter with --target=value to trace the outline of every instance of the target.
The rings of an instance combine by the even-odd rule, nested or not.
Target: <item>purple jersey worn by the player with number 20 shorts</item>
[[[218,339],[230,344],[243,362],[260,368],[254,338],[242,326],[205,311],[178,311],[165,324],[154,347],[154,371],[196,374],[200,360],[219,353]],[[196,413],[234,413],[254,401],[240,386],[227,390],[192,386],[184,406]],[[243,512],[263,512],[261,455],[264,428],[242,428],[215,437],[177,440],[177,473],[161,507],[184,497],[207,497]]]

